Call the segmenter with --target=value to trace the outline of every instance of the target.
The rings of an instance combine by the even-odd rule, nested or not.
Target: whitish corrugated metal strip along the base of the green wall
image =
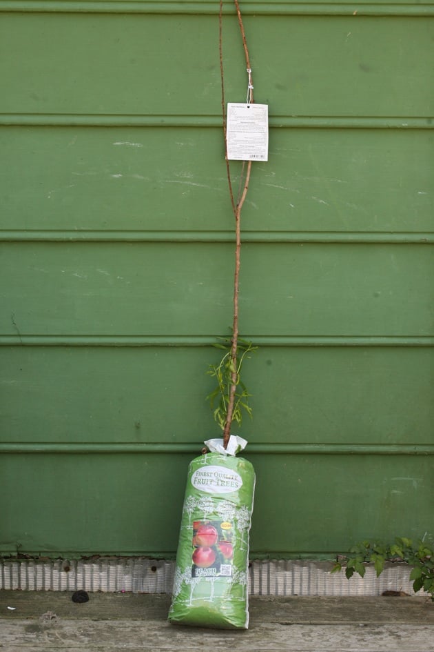
[[[277,560],[251,562],[251,595],[381,595],[383,591],[413,594],[407,564],[389,564],[380,577],[367,566],[362,579],[331,574],[331,562]],[[3,560],[0,589],[21,591],[131,591],[172,593],[174,562],[143,557],[95,560]]]

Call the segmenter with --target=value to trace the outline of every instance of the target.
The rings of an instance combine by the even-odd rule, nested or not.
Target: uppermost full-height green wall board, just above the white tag
[[[224,23],[226,97],[242,101],[238,21]],[[245,28],[271,114],[431,116],[431,18],[248,16]],[[219,112],[214,16],[4,13],[0,42],[0,112]]]

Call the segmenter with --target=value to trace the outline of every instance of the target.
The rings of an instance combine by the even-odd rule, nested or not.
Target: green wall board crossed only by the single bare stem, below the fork
[[[216,335],[233,250],[211,243],[3,243],[3,335]],[[255,335],[433,335],[427,245],[253,244],[240,328]]]

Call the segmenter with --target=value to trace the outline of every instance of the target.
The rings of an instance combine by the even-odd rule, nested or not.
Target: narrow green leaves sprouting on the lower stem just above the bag
[[[225,351],[218,364],[210,364],[207,374],[216,379],[216,388],[208,396],[211,404],[214,420],[220,428],[225,431],[229,405],[232,400],[231,422],[235,421],[238,426],[242,423],[242,413],[245,411],[251,417],[251,406],[245,384],[241,380],[241,368],[249,353],[254,353],[257,346],[253,346],[246,339],[238,337],[236,357],[232,355],[232,338],[220,337],[220,342],[214,344],[216,348]],[[235,386],[235,391],[233,388]]]

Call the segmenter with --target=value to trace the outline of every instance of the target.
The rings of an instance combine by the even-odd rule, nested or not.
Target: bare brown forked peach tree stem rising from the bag
[[[242,46],[245,52],[246,66],[249,71],[249,79],[251,80],[251,66],[250,66],[250,57],[249,50],[247,48],[247,40],[245,35],[244,26],[242,24],[242,16],[240,11],[240,5],[238,0],[234,0],[236,12],[238,16],[238,24],[240,26]],[[223,134],[225,137],[225,159],[226,159],[226,169],[227,169],[227,180],[229,184],[229,195],[231,197],[232,209],[234,210],[235,217],[235,270],[234,270],[234,319],[232,322],[232,344],[231,344],[231,362],[232,368],[234,371],[231,372],[231,388],[229,391],[229,402],[227,406],[227,416],[225,422],[225,429],[223,431],[223,446],[227,448],[229,443],[231,424],[232,424],[232,415],[234,414],[234,403],[236,396],[236,388],[238,384],[238,373],[237,369],[237,351],[238,351],[238,293],[240,287],[240,253],[241,253],[241,209],[247,197],[247,191],[249,190],[249,181],[251,173],[251,161],[247,163],[246,176],[244,181],[244,186],[242,186],[242,178],[244,175],[245,164],[242,165],[242,172],[240,177],[240,190],[238,191],[237,203],[234,201],[234,192],[232,190],[231,182],[231,172],[229,167],[229,161],[227,159],[227,138],[226,138],[226,107],[225,107],[225,83],[224,83],[224,73],[223,73],[223,34],[222,34],[222,23],[223,23],[223,0],[220,0],[220,32],[219,32],[219,50],[220,50],[220,75],[222,82],[222,106],[223,106]],[[251,81],[250,81],[251,83]],[[250,92],[250,101],[253,103],[253,88],[249,88]],[[241,192],[242,188],[242,192]]]

